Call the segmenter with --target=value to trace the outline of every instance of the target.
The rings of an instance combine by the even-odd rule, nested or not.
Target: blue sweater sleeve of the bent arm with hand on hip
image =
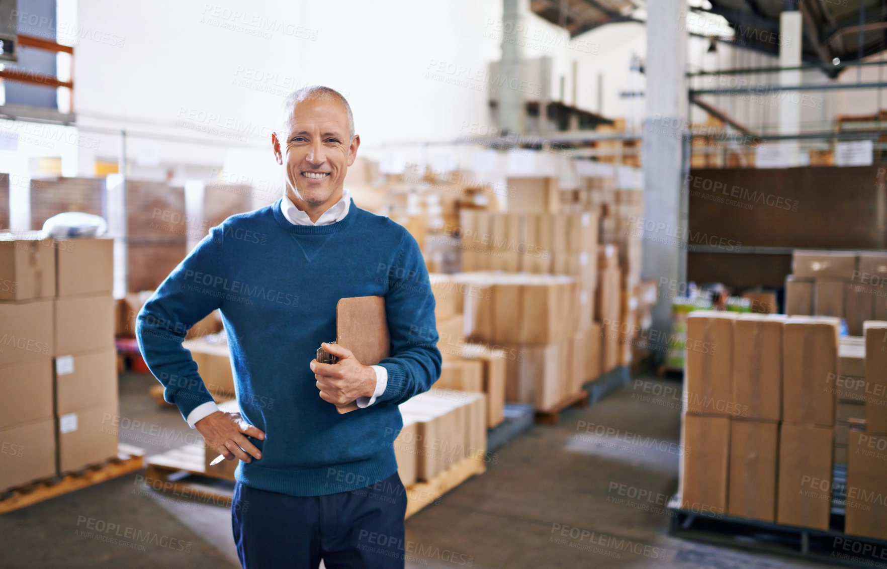
[[[223,277],[219,259],[223,226],[211,230],[169,273],[138,312],[136,337],[148,369],[164,387],[163,399],[186,418],[203,403],[214,401],[197,373],[191,351],[182,346],[191,327],[222,305],[204,283]]]

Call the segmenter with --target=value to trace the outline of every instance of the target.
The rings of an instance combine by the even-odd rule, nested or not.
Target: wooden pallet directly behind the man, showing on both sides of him
[[[203,448],[199,445],[185,445],[151,456],[148,458],[145,483],[161,492],[172,492],[198,502],[230,507],[234,495],[233,479],[206,472],[203,456]],[[486,469],[483,460],[467,457],[452,464],[428,482],[410,485],[406,488],[406,518],[429,503],[434,503],[475,474],[483,474]]]

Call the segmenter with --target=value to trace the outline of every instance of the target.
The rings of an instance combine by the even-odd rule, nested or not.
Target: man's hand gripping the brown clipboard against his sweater
[[[311,360],[311,371],[318,380],[320,398],[334,405],[348,405],[358,397],[372,397],[376,390],[376,371],[357,361],[347,347],[338,344],[321,344],[327,354],[335,355],[339,362],[320,363]]]

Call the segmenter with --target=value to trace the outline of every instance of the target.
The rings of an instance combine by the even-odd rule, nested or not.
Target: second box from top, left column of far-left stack
[[[0,302],[0,366],[53,355],[52,300]]]

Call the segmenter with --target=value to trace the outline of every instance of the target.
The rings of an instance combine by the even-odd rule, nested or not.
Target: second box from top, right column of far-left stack
[[[110,294],[54,300],[55,350],[70,355],[114,346],[114,298]]]

